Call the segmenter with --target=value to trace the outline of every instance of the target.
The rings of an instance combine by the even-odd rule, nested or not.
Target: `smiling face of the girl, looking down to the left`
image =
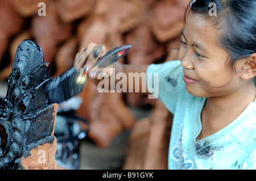
[[[241,86],[239,75],[227,64],[228,52],[217,44],[217,29],[208,20],[189,12],[181,34],[179,59],[190,94],[223,96]]]

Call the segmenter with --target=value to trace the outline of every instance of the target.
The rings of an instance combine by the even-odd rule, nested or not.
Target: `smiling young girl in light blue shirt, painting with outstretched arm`
[[[256,169],[256,1],[197,0],[188,10],[179,61],[115,63],[115,74],[159,73],[158,99],[174,114],[169,169]],[[90,44],[88,57],[94,50],[105,53]],[[90,73],[96,84],[100,71]]]

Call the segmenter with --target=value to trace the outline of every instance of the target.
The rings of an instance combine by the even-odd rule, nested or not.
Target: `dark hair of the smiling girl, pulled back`
[[[216,5],[216,16],[209,15],[211,2]],[[237,60],[256,52],[256,0],[196,0],[191,4],[190,12],[201,14],[218,28],[218,43],[229,53],[232,68]]]

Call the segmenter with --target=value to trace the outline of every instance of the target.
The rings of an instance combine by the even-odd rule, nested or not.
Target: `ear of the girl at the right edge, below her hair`
[[[243,59],[241,79],[250,79],[256,76],[256,53]]]

